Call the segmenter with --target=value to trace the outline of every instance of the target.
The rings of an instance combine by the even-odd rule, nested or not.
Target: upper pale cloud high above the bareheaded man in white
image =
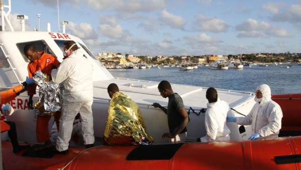
[[[193,28],[194,31],[221,33],[227,32],[229,25],[223,20],[200,15],[198,19],[195,22],[193,22]]]

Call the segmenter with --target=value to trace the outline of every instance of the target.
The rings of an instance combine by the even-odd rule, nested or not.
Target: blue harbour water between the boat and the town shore
[[[281,64],[277,66],[244,66],[243,69],[215,70],[210,67],[198,67],[191,71],[181,71],[178,67],[157,69],[109,69],[114,77],[131,78],[160,82],[214,87],[239,91],[255,92],[260,84],[268,84],[272,94],[301,93],[301,66],[293,67]]]

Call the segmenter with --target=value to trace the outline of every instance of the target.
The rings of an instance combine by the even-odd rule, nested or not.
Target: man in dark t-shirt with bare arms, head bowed
[[[159,103],[152,106],[160,108],[167,114],[169,133],[163,133],[162,138],[169,137],[170,143],[185,142],[187,136],[188,114],[183,104],[182,98],[172,91],[168,81],[163,80],[158,85],[158,90],[162,97],[168,97],[167,109]]]

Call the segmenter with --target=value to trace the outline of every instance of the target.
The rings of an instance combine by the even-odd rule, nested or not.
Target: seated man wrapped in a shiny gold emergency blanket
[[[115,83],[108,86],[111,97],[105,144],[139,145],[152,144],[153,138],[146,132],[138,105],[127,95],[119,92]]]

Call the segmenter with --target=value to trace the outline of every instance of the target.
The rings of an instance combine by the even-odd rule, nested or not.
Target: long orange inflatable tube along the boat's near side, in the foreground
[[[6,169],[301,169],[301,136],[185,143],[165,159],[158,157],[175,144],[147,145],[149,151],[136,154],[136,160],[129,154],[143,146],[69,147],[67,154],[46,159],[12,154],[11,144],[2,144]],[[153,156],[142,159],[147,155]]]

